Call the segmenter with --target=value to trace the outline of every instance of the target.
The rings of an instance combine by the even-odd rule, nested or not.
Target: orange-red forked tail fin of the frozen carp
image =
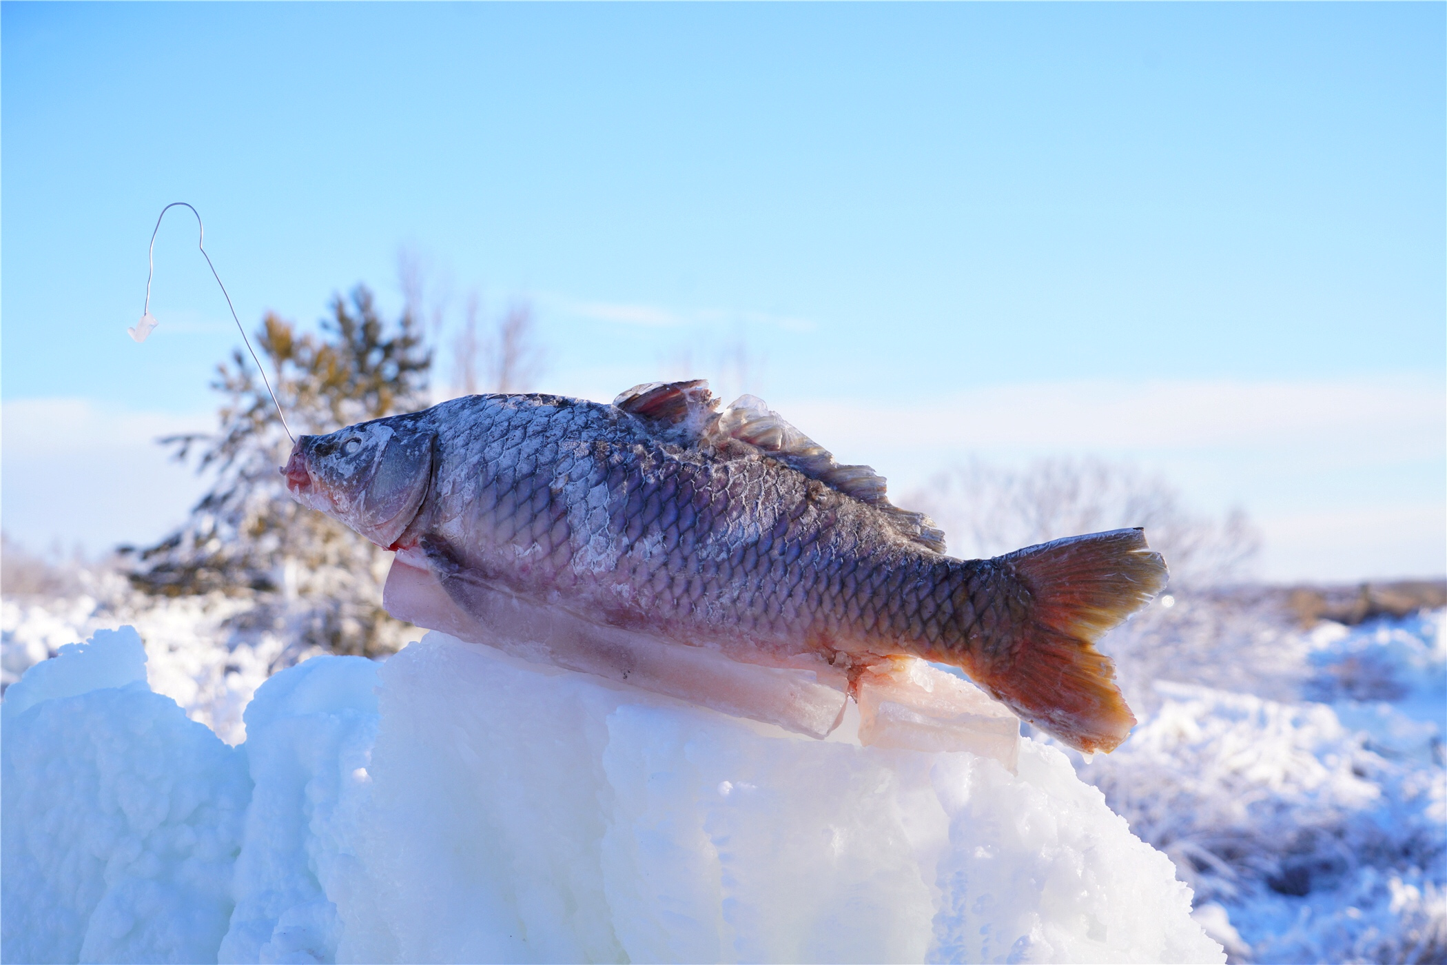
[[[1165,587],[1165,560],[1146,545],[1143,530],[1113,530],[990,563],[1017,583],[1006,592],[1020,599],[1024,590],[1024,599],[1010,608],[1013,619],[978,628],[984,638],[971,676],[1075,749],[1116,749],[1136,718],[1114,683],[1114,664],[1094,644]]]

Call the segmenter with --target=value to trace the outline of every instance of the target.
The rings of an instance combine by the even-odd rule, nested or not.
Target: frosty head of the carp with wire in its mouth
[[[388,421],[302,435],[281,472],[292,499],[394,548],[427,498],[436,433]]]

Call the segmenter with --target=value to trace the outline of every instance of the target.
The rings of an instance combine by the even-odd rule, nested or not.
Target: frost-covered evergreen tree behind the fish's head
[[[386,324],[365,286],[337,297],[320,334],[268,314],[256,347],[298,435],[427,405],[431,354],[411,311]],[[291,440],[260,373],[240,350],[217,366],[224,396],[214,434],[162,440],[214,473],[185,524],[135,551],[130,580],[152,595],[255,599],[242,631],[281,632],[295,657],[320,647],[373,655],[395,650],[404,625],[381,608],[388,554],[289,498],[278,467]]]

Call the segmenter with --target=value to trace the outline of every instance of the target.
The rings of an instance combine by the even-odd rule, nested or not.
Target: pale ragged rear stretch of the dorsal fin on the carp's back
[[[790,425],[778,412],[770,409],[764,399],[755,395],[739,396],[724,409],[718,431],[768,453],[831,489],[870,503],[883,511],[890,524],[906,538],[935,553],[945,551],[945,532],[933,519],[922,512],[900,509],[888,501],[884,495],[884,476],[870,466],[841,466],[829,450]]]

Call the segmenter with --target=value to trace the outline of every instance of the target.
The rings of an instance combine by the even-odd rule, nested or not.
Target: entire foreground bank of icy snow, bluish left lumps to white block
[[[137,652],[6,694],[7,961],[1221,961],[1033,741],[818,742],[430,634],[275,674],[232,749]]]

